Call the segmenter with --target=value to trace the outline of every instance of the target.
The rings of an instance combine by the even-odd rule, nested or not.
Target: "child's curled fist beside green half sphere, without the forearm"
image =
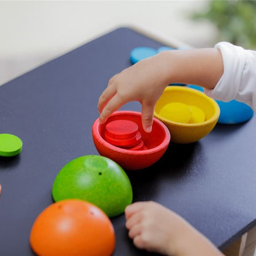
[[[183,239],[185,221],[156,202],[135,202],[126,207],[126,228],[139,249],[176,255],[177,239]]]

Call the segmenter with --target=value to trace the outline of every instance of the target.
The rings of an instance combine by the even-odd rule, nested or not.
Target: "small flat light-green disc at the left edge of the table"
[[[22,151],[22,140],[12,134],[0,134],[0,156],[16,156]]]

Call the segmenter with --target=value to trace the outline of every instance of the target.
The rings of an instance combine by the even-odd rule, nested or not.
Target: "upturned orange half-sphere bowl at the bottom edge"
[[[63,200],[36,218],[30,245],[40,256],[110,256],[115,246],[114,228],[94,204]]]

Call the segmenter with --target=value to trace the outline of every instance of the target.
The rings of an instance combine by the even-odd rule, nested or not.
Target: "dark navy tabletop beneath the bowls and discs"
[[[98,154],[92,124],[108,79],[130,66],[130,50],[160,44],[118,28],[0,87],[0,133],[15,134],[23,150],[0,158],[0,255],[34,255],[31,226],[52,204],[52,184],[69,161]],[[137,102],[122,109],[140,111]],[[128,172],[135,201],[174,210],[224,249],[256,225],[256,118],[220,125],[199,142],[170,143],[153,166]],[[111,218],[114,255],[150,255],[135,249],[124,215]]]

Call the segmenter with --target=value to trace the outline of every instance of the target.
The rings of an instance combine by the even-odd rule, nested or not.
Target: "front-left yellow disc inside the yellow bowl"
[[[174,122],[188,123],[192,117],[190,108],[181,102],[172,102],[164,105],[159,111],[162,118],[169,119]]]

